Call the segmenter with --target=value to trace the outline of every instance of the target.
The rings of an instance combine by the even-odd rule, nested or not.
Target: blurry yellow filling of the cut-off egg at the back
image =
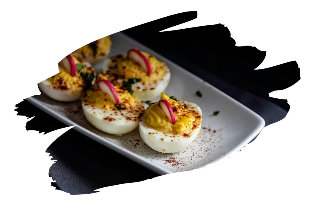
[[[109,35],[99,38],[96,43],[97,46],[96,56],[105,56],[106,53],[111,49],[111,45],[112,41],[109,38]],[[91,55],[91,56],[93,56],[94,54],[92,48],[88,44],[85,44],[77,48],[76,50],[74,50],[74,53]]]

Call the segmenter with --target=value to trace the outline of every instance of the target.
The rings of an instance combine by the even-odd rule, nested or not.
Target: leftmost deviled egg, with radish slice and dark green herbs
[[[39,80],[37,84],[50,98],[69,102],[81,99],[83,91],[94,85],[95,76],[91,64],[81,63],[69,54],[59,61],[57,73]]]

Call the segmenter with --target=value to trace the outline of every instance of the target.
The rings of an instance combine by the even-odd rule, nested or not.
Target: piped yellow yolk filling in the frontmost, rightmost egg
[[[161,93],[161,100],[167,100],[175,115],[176,123],[173,125],[167,118],[159,103],[152,104],[145,111],[147,124],[157,131],[178,134],[193,128],[194,116],[179,105],[175,100],[170,99],[166,94]]]

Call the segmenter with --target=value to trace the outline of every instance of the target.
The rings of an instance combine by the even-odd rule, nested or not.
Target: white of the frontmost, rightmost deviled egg
[[[197,106],[197,104],[181,100],[181,104],[184,103],[187,104],[188,111],[196,111],[198,115],[202,117],[201,108]],[[145,117],[143,116],[139,124],[139,131],[142,140],[155,151],[161,153],[176,153],[186,149],[196,139],[201,130],[202,118],[197,120],[198,125],[196,128],[174,135],[150,128],[145,120]],[[184,137],[184,133],[188,134],[189,137]]]

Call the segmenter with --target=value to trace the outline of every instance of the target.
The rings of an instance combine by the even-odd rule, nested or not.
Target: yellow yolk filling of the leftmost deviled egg
[[[76,57],[72,56],[75,64],[80,64]],[[83,79],[76,73],[74,77],[71,77],[61,66],[58,65],[58,73],[46,78],[48,82],[52,84],[55,89],[68,90],[72,88],[82,89],[84,86]]]

